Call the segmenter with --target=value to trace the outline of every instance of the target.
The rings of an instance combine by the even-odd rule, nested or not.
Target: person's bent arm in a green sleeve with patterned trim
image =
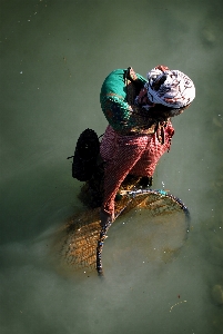
[[[141,132],[151,127],[148,111],[134,105],[134,99],[146,80],[128,70],[114,70],[102,85],[101,107],[112,128],[123,135]]]

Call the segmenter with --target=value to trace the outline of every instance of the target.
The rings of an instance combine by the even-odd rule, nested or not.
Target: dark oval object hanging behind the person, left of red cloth
[[[79,137],[72,163],[72,177],[80,181],[89,180],[97,166],[100,143],[94,130],[85,129]]]

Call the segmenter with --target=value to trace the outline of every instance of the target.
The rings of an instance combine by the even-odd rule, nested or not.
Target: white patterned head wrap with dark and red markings
[[[171,108],[182,108],[195,98],[193,81],[179,70],[170,70],[158,66],[148,72],[145,84],[148,98],[152,104],[161,104]]]

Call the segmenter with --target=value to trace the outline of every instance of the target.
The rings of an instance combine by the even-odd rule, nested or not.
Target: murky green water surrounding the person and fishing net
[[[1,0],[1,333],[222,333],[221,12],[220,0]],[[104,281],[67,271],[51,242],[83,209],[67,157],[83,129],[104,131],[104,77],[159,63],[196,86],[154,175],[189,206],[190,237],[168,263],[105,262]]]

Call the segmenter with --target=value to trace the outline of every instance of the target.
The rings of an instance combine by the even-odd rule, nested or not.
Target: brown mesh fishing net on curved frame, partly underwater
[[[102,248],[107,245],[108,230],[110,227],[112,229],[113,226],[118,226],[119,222],[122,222],[128,215],[133,222],[132,227],[129,224],[128,228],[133,229],[133,238],[134,240],[139,239],[140,244],[151,243],[151,232],[150,229],[146,232],[145,226],[152,224],[153,228],[162,230],[163,254],[170,255],[182,247],[187,236],[190,219],[187,208],[179,198],[165,191],[152,189],[126,190],[123,194],[122,198],[116,202],[116,219],[111,224],[112,227],[100,225],[99,208],[87,209],[70,218],[60,250],[68,265],[84,268],[84,271],[97,269],[99,275],[103,275]],[[143,217],[139,222],[142,215]],[[120,236],[122,235],[122,245],[129,244],[134,247],[120,229],[118,236],[119,233]],[[173,235],[176,235],[176,242],[171,242]],[[115,249],[115,245],[113,247]],[[136,247],[139,250],[139,246]]]

